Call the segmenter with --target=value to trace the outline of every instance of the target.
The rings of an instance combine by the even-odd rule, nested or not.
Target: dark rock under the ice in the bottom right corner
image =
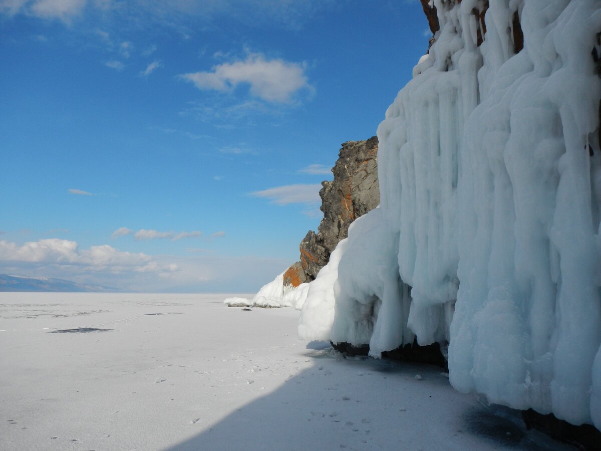
[[[522,411],[522,418],[526,428],[537,429],[555,440],[585,451],[601,450],[601,431],[592,425],[575,426],[553,414],[543,415],[532,409]]]

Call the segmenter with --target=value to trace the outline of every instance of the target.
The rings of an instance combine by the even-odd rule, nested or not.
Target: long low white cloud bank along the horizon
[[[0,273],[57,277],[139,292],[257,292],[287,259],[224,257],[189,249],[182,256],[149,256],[108,245],[79,250],[73,241],[43,239],[17,245],[0,241]]]

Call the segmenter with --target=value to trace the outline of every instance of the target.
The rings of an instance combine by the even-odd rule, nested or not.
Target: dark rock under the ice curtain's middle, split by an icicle
[[[367,355],[370,351],[369,345],[353,346],[350,343],[332,343],[332,347],[343,354],[348,355]],[[419,346],[416,340],[411,345],[399,346],[392,351],[382,352],[382,357],[393,360],[403,360],[415,363],[427,363],[444,368],[448,371],[447,359],[441,352],[438,343],[432,345]]]

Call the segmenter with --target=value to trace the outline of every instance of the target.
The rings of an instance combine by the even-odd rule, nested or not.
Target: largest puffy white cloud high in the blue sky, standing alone
[[[211,72],[185,73],[180,77],[200,90],[231,91],[240,84],[248,84],[252,96],[267,102],[290,103],[299,91],[311,90],[304,72],[304,64],[266,60],[254,53],[243,61],[214,66]]]

